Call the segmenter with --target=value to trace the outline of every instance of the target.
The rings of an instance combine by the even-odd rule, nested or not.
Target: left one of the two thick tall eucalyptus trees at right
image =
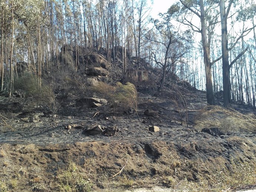
[[[176,15],[177,20],[186,26],[189,26],[194,32],[201,34],[204,67],[206,77],[207,103],[214,105],[212,66],[221,58],[211,61],[210,59],[210,41],[214,32],[214,27],[218,23],[218,13],[214,9],[215,1],[204,0],[180,0],[168,10],[171,15]],[[200,26],[198,25],[198,19]]]

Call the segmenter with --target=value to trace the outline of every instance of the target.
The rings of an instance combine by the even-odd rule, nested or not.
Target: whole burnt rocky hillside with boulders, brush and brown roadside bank
[[[24,73],[13,97],[0,97],[0,191],[255,187],[252,109],[207,107],[178,78],[156,98],[157,83],[116,83],[120,63],[100,52],[66,46],[60,60],[42,89],[24,86],[33,82]]]

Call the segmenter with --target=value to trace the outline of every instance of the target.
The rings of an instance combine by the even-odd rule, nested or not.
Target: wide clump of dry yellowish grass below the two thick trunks
[[[197,115],[196,125],[198,128],[219,128],[223,132],[256,132],[256,116],[220,106],[208,106]]]

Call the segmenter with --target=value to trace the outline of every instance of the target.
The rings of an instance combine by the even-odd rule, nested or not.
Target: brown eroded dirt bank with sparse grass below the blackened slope
[[[2,143],[1,190],[6,186],[13,191],[63,191],[65,185],[73,183],[73,191],[81,191],[76,172],[82,175],[84,187],[89,186],[88,191],[155,185],[220,191],[255,182],[255,138],[229,136],[213,140],[201,136],[204,139],[152,142],[110,138],[109,142],[54,145]],[[69,183],[62,181],[64,176]]]

